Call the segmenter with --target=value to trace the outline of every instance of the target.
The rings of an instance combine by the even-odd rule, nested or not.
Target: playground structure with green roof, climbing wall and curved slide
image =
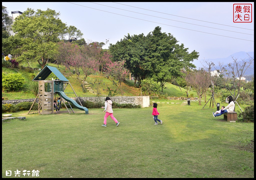
[[[54,73],[57,79],[45,80],[51,73]],[[45,68],[42,69],[41,72],[32,81],[38,81],[38,94],[33,104],[31,105],[28,111],[28,114],[29,113],[53,114],[55,110],[54,100],[57,101],[58,97],[61,98],[61,102],[63,102],[62,104],[65,105],[69,113],[70,113],[69,109],[71,109],[72,112],[74,113],[74,110],[70,105],[70,103],[72,103],[76,108],[80,110],[84,110],[85,113],[88,114],[88,109],[82,106],[73,87],[68,82],[69,80],[65,76],[63,76],[62,73],[57,68],[51,67],[51,66],[45,66]],[[65,94],[64,90],[67,88],[68,84],[71,86],[73,90],[73,92],[71,93],[74,93],[76,95],[80,105],[75,100],[69,98]],[[38,99],[38,109],[31,111],[37,99]],[[70,108],[67,107],[67,105],[65,104],[65,101],[68,102],[68,105]]]

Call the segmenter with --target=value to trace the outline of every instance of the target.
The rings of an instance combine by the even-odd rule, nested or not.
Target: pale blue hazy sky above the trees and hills
[[[234,4],[252,4],[249,21],[236,18]],[[254,2],[2,2],[9,15],[47,8],[60,13],[68,26],[75,26],[87,42],[115,44],[125,36],[152,32],[172,34],[201,59],[225,58],[236,52],[254,52]],[[243,10],[243,9],[242,9]],[[234,15],[235,14],[235,15]],[[242,15],[246,13],[241,13]],[[233,20],[244,23],[234,23]],[[237,20],[235,22],[238,22]],[[196,64],[196,60],[194,64]]]

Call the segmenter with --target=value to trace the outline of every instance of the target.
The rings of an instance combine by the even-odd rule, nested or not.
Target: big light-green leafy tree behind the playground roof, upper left
[[[28,8],[15,19],[12,30],[14,37],[22,44],[12,50],[12,54],[20,55],[19,61],[37,61],[44,68],[49,58],[57,53],[56,43],[67,32],[67,25],[58,18],[55,10],[37,12]],[[11,40],[11,39],[10,39]]]

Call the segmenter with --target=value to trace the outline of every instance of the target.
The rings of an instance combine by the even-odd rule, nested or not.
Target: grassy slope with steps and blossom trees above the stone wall
[[[33,66],[33,63],[30,63],[32,67],[36,67],[35,65]],[[56,64],[49,63],[49,66],[56,67],[58,66]],[[80,87],[80,83],[76,79],[76,75],[73,75],[72,71],[66,70],[62,66],[59,66],[58,68],[60,72],[69,80],[71,86],[73,87],[74,91],[76,92],[77,96],[81,97],[94,97],[95,95],[91,92],[82,92],[82,88]],[[35,70],[36,72],[40,72],[39,70]],[[29,72],[24,70],[24,69],[9,69],[9,68],[2,68],[2,73],[21,73],[23,77],[25,78],[24,82],[29,84],[32,82],[32,79],[29,78]],[[110,87],[111,89],[118,89],[118,94],[116,96],[121,96],[121,91],[118,87],[113,85],[113,83],[109,80],[106,79],[102,76],[88,76],[86,81],[88,83],[93,83],[95,79],[102,80],[102,83],[100,85],[100,94],[101,96],[106,96],[108,94],[107,92],[107,87]],[[36,83],[36,82],[35,82]],[[125,82],[122,82],[122,91],[123,91],[123,96],[140,96],[140,89],[138,86],[134,86],[134,81],[126,80]],[[92,89],[96,92],[97,88],[94,86],[90,86]],[[164,89],[163,92],[167,93],[168,96],[186,96],[185,90],[182,88],[183,91],[180,91],[179,87],[174,86],[172,84],[166,84],[167,89]],[[73,92],[72,88],[70,85],[67,86],[65,92]],[[196,94],[194,92],[194,94]],[[75,97],[74,94],[72,93],[67,93],[67,96],[69,97]],[[2,97],[5,99],[30,99],[30,98],[35,98],[34,94],[31,94],[29,92],[25,91],[19,91],[19,92],[2,92]]]

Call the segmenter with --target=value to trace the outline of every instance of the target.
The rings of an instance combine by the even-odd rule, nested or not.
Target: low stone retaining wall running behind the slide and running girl
[[[91,102],[105,102],[106,97],[81,97],[85,101]],[[76,98],[71,98],[76,99]],[[142,108],[150,106],[149,96],[114,96],[110,97],[110,99],[119,104],[133,104],[133,105],[141,105]],[[18,104],[21,102],[34,102],[35,99],[19,99],[19,100],[2,100],[2,104]],[[36,100],[38,102],[38,99]]]

